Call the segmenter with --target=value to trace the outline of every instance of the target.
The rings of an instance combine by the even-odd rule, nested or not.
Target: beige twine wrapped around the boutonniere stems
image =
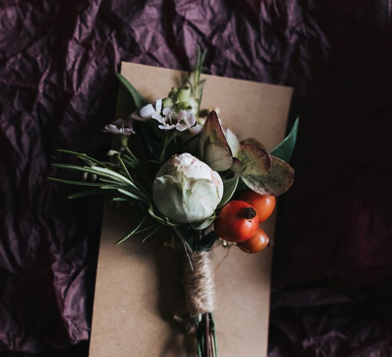
[[[215,310],[214,267],[209,251],[190,254],[184,263],[185,307],[190,317]]]

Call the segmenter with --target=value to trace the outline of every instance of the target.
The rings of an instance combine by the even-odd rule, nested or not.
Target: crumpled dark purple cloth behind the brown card
[[[295,87],[269,357],[392,355],[391,1],[0,2],[0,354],[87,356],[102,198],[48,183],[104,158],[121,60]]]

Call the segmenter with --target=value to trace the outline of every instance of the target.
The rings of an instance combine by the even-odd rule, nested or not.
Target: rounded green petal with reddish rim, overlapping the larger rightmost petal
[[[264,175],[271,169],[271,156],[259,146],[241,144],[237,157],[242,163],[243,175]]]

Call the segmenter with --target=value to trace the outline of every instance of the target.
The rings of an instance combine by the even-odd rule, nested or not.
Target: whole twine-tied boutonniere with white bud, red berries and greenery
[[[187,331],[194,334],[199,357],[217,355],[213,245],[221,241],[256,253],[271,244],[259,223],[274,211],[275,196],[293,182],[287,162],[298,128],[297,119],[269,154],[256,139],[240,142],[217,108],[202,108],[205,55],[198,50],[197,63],[183,86],[168,88],[167,96],[153,103],[117,73],[134,111],[104,128],[117,139],[108,152],[110,160],[60,150],[83,164],[54,166],[79,171],[82,180],[50,177],[90,187],[68,198],[108,193],[117,206],[132,212],[133,228],[116,244],[132,236],[141,237],[141,243],[165,236],[170,237],[170,246],[183,250],[186,312],[174,317],[185,321]]]

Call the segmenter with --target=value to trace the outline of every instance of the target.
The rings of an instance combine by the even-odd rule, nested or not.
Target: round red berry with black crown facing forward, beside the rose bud
[[[229,242],[242,242],[255,234],[258,225],[254,207],[244,201],[231,201],[220,210],[214,230],[218,237]]]

